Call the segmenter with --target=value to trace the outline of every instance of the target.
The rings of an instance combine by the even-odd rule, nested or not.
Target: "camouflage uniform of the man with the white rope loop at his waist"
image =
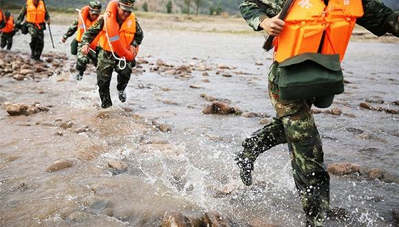
[[[122,23],[119,24],[120,26]],[[83,34],[82,45],[88,45],[91,41],[96,38],[98,33],[103,30],[104,27],[104,18],[100,17],[98,21],[93,23],[91,27]],[[138,24],[136,19],[136,34],[131,45],[138,47],[141,44],[142,39],[144,38],[142,29]],[[127,83],[130,80],[131,68],[136,65],[136,61],[127,62],[125,69],[120,70],[118,67],[118,61],[112,56],[111,52],[107,52],[103,50],[101,47],[97,47],[98,49],[98,65],[97,65],[97,84],[98,84],[98,92],[101,98],[101,107],[107,108],[112,105],[111,95],[109,94],[109,85],[111,83],[112,72],[118,74],[118,85],[116,89],[120,92],[120,100],[124,102],[122,93],[124,94],[125,88],[127,87]]]

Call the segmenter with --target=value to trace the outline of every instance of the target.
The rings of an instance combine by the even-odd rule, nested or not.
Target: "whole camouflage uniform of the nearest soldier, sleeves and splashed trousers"
[[[262,30],[263,19],[276,16],[283,0],[245,0],[240,5],[242,17],[255,30]],[[393,12],[380,0],[363,0],[365,14],[356,23],[381,36],[387,32],[399,36],[399,12]],[[309,226],[322,226],[330,209],[330,176],[323,161],[319,131],[310,112],[312,100],[282,100],[274,83],[281,75],[277,62],[268,74],[268,92],[277,118],[246,138],[244,151],[237,154],[237,164],[244,184],[250,185],[253,162],[263,152],[287,142],[296,188],[299,191]]]

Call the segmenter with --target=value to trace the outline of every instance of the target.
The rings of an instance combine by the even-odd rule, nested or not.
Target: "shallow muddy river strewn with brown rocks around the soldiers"
[[[94,67],[74,79],[69,45],[47,42],[36,63],[17,34],[0,52],[0,225],[304,226],[286,145],[259,157],[250,187],[233,162],[274,116],[262,36],[142,27],[128,100],[113,80],[105,110]],[[349,212],[326,226],[398,224],[398,50],[350,43],[345,93],[313,109],[331,204]]]

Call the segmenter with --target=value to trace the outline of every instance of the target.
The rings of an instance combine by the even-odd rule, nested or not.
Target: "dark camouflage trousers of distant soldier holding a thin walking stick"
[[[33,23],[27,23],[27,25],[28,25],[28,32],[31,36],[29,45],[32,54],[30,55],[30,57],[35,60],[39,60],[41,52],[43,51],[44,47],[43,30],[45,29],[45,25],[41,25],[41,28],[38,28]]]

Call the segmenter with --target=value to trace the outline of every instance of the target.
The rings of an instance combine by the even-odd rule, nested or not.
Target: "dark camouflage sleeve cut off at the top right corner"
[[[391,8],[385,6],[381,0],[362,0],[362,3],[365,14],[357,19],[358,25],[376,36],[391,33],[399,37],[399,12],[394,12]]]

